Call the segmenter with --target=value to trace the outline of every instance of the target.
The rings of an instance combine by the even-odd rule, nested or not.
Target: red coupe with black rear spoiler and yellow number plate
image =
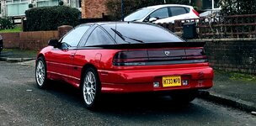
[[[104,93],[168,92],[175,102],[191,102],[198,89],[212,87],[204,45],[155,24],[81,24],[40,51],[35,79],[40,88],[48,80],[80,88],[87,108]]]

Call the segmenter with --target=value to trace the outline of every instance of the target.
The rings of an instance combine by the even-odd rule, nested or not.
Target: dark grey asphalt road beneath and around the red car
[[[169,97],[108,95],[101,109],[83,107],[77,89],[51,82],[35,85],[35,66],[0,61],[0,125],[256,125],[256,117],[196,99],[187,106]]]

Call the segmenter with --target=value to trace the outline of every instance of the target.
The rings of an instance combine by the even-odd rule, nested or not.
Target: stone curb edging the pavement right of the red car
[[[213,92],[209,93],[205,91],[200,91],[198,97],[211,102],[217,102],[227,106],[231,106],[233,108],[238,108],[249,113],[256,111],[255,103],[243,101],[235,97],[229,97],[222,94],[216,94]]]

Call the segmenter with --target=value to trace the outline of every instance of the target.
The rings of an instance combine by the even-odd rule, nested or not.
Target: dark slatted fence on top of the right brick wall
[[[198,39],[256,38],[256,14],[209,16],[160,24],[173,32],[183,32],[185,23],[195,22]]]

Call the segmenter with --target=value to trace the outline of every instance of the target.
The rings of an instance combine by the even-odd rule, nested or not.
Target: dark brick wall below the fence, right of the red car
[[[256,74],[256,39],[200,41],[206,41],[205,53],[215,69]]]

